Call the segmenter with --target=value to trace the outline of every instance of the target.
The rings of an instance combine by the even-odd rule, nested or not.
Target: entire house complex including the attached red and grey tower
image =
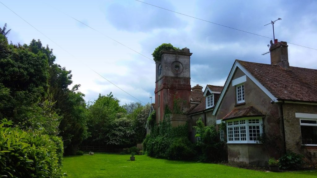
[[[287,151],[317,159],[317,70],[292,67],[287,42],[270,47],[271,64],[235,60],[224,86],[190,86],[190,50],[162,50],[156,63],[156,123],[171,111],[173,126],[198,118],[205,125],[225,122],[219,139],[228,161],[265,166]],[[185,113],[182,115],[180,113]]]

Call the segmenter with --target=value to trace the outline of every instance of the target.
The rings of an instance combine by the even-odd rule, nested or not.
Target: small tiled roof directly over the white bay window
[[[223,120],[249,116],[263,116],[263,114],[253,106],[249,106],[232,110],[229,114],[223,117]]]

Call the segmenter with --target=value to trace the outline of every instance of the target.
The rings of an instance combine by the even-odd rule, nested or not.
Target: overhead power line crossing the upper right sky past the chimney
[[[153,6],[153,7],[157,7],[157,8],[163,9],[163,10],[167,10],[167,11],[170,11],[170,12],[174,12],[174,13],[177,13],[177,14],[180,14],[180,15],[183,15],[183,16],[191,17],[191,18],[194,18],[194,19],[197,19],[197,20],[201,20],[201,21],[204,21],[204,22],[208,22],[208,23],[212,23],[212,24],[219,25],[219,26],[222,26],[222,27],[226,27],[226,28],[229,28],[229,29],[234,29],[234,30],[238,30],[238,31],[241,31],[241,32],[249,33],[249,34],[252,34],[252,35],[257,35],[257,36],[261,36],[261,37],[264,37],[264,38],[272,39],[272,38],[267,37],[267,36],[259,35],[259,34],[256,34],[256,33],[251,33],[251,32],[245,31],[245,30],[236,29],[236,28],[229,27],[229,26],[226,26],[226,25],[221,25],[221,24],[215,23],[215,22],[210,22],[208,20],[200,19],[200,18],[197,18],[197,17],[194,17],[194,16],[189,16],[189,15],[186,15],[186,14],[183,14],[183,13],[180,13],[180,12],[176,12],[176,11],[173,11],[173,10],[165,9],[165,8],[162,8],[162,7],[150,4],[150,3],[146,3],[146,2],[143,2],[143,1],[139,1],[139,0],[135,0],[135,1],[138,1],[140,3],[145,3],[147,5],[150,5],[150,6]],[[288,42],[288,43],[296,45],[296,46],[304,47],[304,48],[314,49],[314,50],[317,51],[317,49],[315,49],[315,48],[310,48],[310,47],[307,47],[307,46],[302,46],[302,45],[298,45],[298,44],[290,43],[290,42]]]

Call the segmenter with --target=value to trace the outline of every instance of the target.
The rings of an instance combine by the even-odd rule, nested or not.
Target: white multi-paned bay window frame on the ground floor
[[[254,139],[250,140],[251,138],[249,135],[250,130],[254,128],[250,129],[249,127],[258,126],[256,127],[256,129],[258,128],[259,134],[262,134],[263,133],[262,118],[252,117],[252,118],[232,119],[232,120],[226,121],[226,124],[227,124],[227,143],[259,143],[259,141],[256,141]]]

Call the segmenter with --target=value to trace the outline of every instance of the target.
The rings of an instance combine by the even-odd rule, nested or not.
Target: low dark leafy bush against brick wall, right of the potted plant
[[[302,158],[304,156],[296,154],[294,152],[288,152],[283,155],[279,162],[281,163],[280,168],[282,169],[300,169],[304,163]]]

